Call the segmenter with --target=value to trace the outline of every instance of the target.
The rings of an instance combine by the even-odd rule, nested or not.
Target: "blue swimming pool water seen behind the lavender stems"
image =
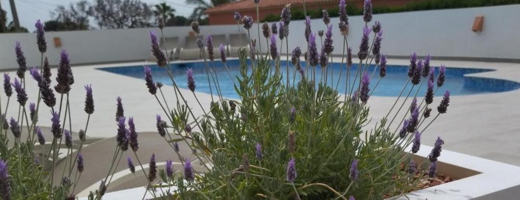
[[[228,60],[228,67],[231,75],[235,77],[235,75],[240,76],[240,65],[238,60]],[[304,62],[302,62],[305,65]],[[214,62],[215,68],[218,76],[218,81],[220,88],[222,88],[223,96],[227,98],[239,98],[234,87],[233,81],[229,78],[228,72],[224,65],[220,61]],[[289,64],[290,73],[292,77],[292,64]],[[285,72],[285,61],[282,61],[281,71]],[[155,82],[162,82],[163,84],[172,85],[170,77],[167,75],[164,69],[159,68],[157,65],[151,65],[152,74]],[[187,62],[187,63],[175,63],[171,65],[173,69],[173,74],[176,83],[179,87],[187,88],[186,85],[186,70],[188,68],[193,69],[193,78],[196,82],[197,88],[196,91],[210,93],[209,84],[207,83],[206,76],[206,68],[203,62]],[[331,69],[332,68],[332,69]],[[112,72],[116,74],[122,74],[126,76],[136,77],[144,79],[144,73],[142,70],[142,66],[124,66],[124,67],[113,67],[113,68],[100,68],[99,70]],[[316,76],[319,77],[321,74],[321,68],[316,67]],[[330,71],[332,70],[333,73]],[[356,74],[357,65],[354,64],[350,68],[350,80],[354,79],[354,75]],[[374,66],[370,66],[368,69],[369,75],[372,74],[374,70]],[[381,79],[376,90],[373,92],[374,96],[385,96],[385,97],[393,97],[398,96],[402,87],[405,85],[408,76],[407,76],[408,66],[402,65],[388,65],[386,76]],[[514,89],[520,88],[520,83],[505,81],[502,79],[493,79],[493,78],[480,78],[480,77],[465,77],[465,74],[479,73],[479,72],[488,72],[492,70],[486,69],[464,69],[464,68],[447,68],[446,70],[446,82],[443,87],[439,89],[436,95],[441,95],[445,90],[450,90],[451,95],[471,95],[471,94],[483,94],[483,93],[492,93],[492,92],[503,92],[510,91]],[[438,69],[436,69],[436,75],[438,74]],[[340,74],[340,63],[331,63],[329,67],[329,78],[333,76],[334,78],[334,86],[336,85],[337,79]],[[340,80],[340,84],[338,86],[338,91],[340,93],[344,93],[345,91],[345,76],[346,71],[343,69],[343,75]],[[299,78],[299,75],[297,75]],[[357,78],[359,81],[359,78]],[[379,68],[376,69],[375,74],[372,76],[370,87],[371,90],[375,86],[376,82],[379,79]],[[285,78],[283,78],[285,80]],[[330,79],[329,79],[330,80]],[[297,81],[297,80],[296,80]],[[352,82],[352,81],[351,81]],[[330,84],[330,81],[329,81]],[[351,83],[352,84],[352,83]],[[215,85],[212,83],[212,87]],[[411,88],[411,83],[408,84],[407,88]],[[417,88],[417,87],[415,87]],[[143,84],[143,88],[146,89],[146,86]],[[423,84],[421,94],[425,94],[426,92],[426,83]],[[406,90],[408,91],[408,90]],[[215,89],[213,89],[215,92]]]

